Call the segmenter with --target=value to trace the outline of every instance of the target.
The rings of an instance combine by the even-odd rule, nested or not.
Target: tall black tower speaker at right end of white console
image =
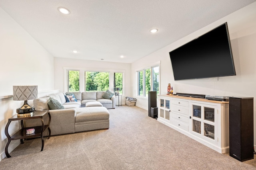
[[[241,162],[254,158],[253,98],[229,98],[229,155]]]

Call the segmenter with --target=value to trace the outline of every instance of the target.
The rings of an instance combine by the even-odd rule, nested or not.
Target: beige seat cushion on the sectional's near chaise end
[[[76,122],[109,119],[106,107],[80,107],[76,108]]]

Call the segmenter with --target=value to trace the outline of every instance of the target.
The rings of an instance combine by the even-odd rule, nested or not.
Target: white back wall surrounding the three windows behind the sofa
[[[124,89],[123,89],[123,103],[125,96],[131,95],[131,64],[127,63],[113,63],[105,61],[90,61],[79,59],[64,59],[54,57],[54,88],[60,89],[61,92],[65,92],[65,68],[74,68],[78,70],[88,71],[104,71],[118,72],[124,71]],[[110,80],[111,81],[111,80]],[[114,81],[114,80],[113,80]],[[81,82],[82,83],[82,82]],[[110,88],[112,91],[113,88]],[[80,90],[82,91],[82,90]]]

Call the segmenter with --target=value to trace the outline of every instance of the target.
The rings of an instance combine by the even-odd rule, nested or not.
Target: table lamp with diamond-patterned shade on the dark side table
[[[16,109],[18,116],[30,116],[34,114],[35,107],[28,104],[28,100],[38,97],[38,86],[13,86],[13,100],[23,101],[24,104]]]

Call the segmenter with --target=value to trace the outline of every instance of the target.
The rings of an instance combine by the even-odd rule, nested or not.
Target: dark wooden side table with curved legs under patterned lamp
[[[49,116],[49,121],[48,121],[47,125],[44,125],[43,117],[47,116],[47,115]],[[27,120],[27,119],[41,119],[42,126],[26,127],[26,128],[24,128],[23,120]],[[11,121],[18,121],[18,120],[20,120],[21,129],[18,132],[16,132],[14,135],[10,136],[9,133],[8,133],[8,127],[9,127]],[[20,143],[23,144],[24,143],[23,139],[41,137],[41,140],[42,140],[41,151],[42,151],[44,149],[44,136],[43,136],[43,132],[46,129],[48,129],[49,135],[48,135],[47,139],[50,139],[50,136],[51,136],[51,129],[49,127],[50,121],[51,121],[51,115],[50,115],[50,112],[48,110],[47,111],[34,111],[34,115],[28,116],[28,117],[26,117],[26,116],[20,117],[20,116],[14,115],[13,117],[9,118],[8,119],[8,123],[7,123],[6,127],[5,127],[5,131],[4,131],[6,137],[8,138],[8,142],[7,142],[6,147],[5,147],[5,154],[6,154],[7,158],[11,157],[10,154],[8,153],[8,146],[9,146],[9,144],[10,144],[10,142],[12,140],[20,139]],[[31,129],[31,128],[35,129],[35,133],[27,135],[26,134],[26,130],[27,129]]]

